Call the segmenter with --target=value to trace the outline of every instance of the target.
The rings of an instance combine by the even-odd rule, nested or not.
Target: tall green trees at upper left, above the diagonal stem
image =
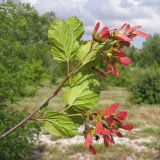
[[[0,103],[33,95],[44,75],[56,74],[47,36],[54,18],[29,4],[0,4]]]

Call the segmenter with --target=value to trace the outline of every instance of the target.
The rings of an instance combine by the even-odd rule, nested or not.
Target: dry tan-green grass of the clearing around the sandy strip
[[[48,82],[38,90],[35,96],[24,98],[18,104],[14,105],[18,110],[26,108],[29,112],[35,108],[40,102],[45,100],[55,89],[55,86]],[[134,105],[129,102],[129,92],[125,88],[108,88],[102,91],[100,95],[100,102],[98,107],[103,108],[111,105],[114,102],[120,104],[119,111],[128,111],[128,122],[134,125],[137,131],[124,133],[125,137],[131,141],[153,137],[156,139],[160,135],[160,105]],[[57,111],[64,106],[62,97],[55,97],[49,104],[49,111]],[[56,140],[58,137],[52,137]],[[152,143],[152,142],[151,142]],[[138,145],[145,146],[144,143]],[[147,144],[148,145],[148,144]],[[103,145],[95,145],[97,148],[97,155],[95,160],[150,160],[155,156],[152,150],[141,151],[135,150],[126,145],[111,145],[105,149]],[[68,147],[46,147],[42,154],[42,160],[79,160],[80,158],[91,160],[88,149],[83,144],[70,145]]]

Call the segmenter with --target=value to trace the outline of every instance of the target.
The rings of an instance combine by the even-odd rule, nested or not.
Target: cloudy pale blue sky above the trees
[[[160,0],[21,0],[31,3],[39,13],[53,11],[66,19],[76,15],[85,25],[85,38],[90,38],[97,21],[102,25],[119,27],[124,22],[142,25],[142,31],[160,33]],[[140,47],[143,39],[133,43]]]

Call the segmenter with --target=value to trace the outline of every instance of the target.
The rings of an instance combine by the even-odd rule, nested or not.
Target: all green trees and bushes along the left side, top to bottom
[[[39,15],[29,4],[0,3],[0,134],[27,114],[23,108],[12,111],[6,106],[8,102],[33,95],[53,73],[58,77],[47,35],[54,19],[53,12]],[[24,160],[31,154],[39,131],[39,124],[30,121],[8,136],[0,143],[0,159]]]

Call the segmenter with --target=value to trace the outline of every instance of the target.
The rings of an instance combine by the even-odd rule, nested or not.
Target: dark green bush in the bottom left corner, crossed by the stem
[[[15,125],[27,113],[0,110],[0,134]],[[1,160],[24,160],[38,141],[39,123],[30,121],[0,142]]]

